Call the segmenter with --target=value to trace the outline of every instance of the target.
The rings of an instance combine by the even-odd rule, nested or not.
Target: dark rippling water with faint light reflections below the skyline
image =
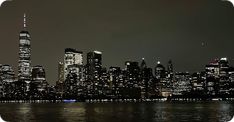
[[[9,122],[225,122],[234,103],[1,103],[0,115]]]

